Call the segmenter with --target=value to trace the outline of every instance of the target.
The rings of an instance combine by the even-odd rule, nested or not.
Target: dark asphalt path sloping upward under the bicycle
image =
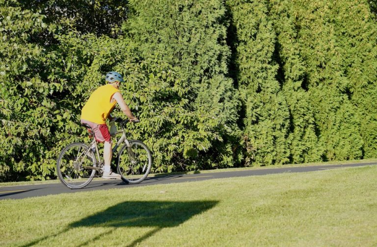
[[[174,174],[163,175],[146,178],[140,184],[127,185],[122,180],[99,180],[92,181],[83,189],[71,190],[61,183],[40,184],[40,185],[24,185],[24,186],[8,186],[0,187],[0,199],[21,199],[29,197],[40,197],[47,195],[56,195],[62,193],[78,193],[83,191],[108,190],[108,189],[128,189],[136,186],[148,186],[155,184],[181,183],[188,181],[203,181],[208,179],[219,179],[229,177],[259,176],[276,173],[306,173],[314,171],[323,171],[329,169],[341,169],[347,167],[359,167],[377,165],[373,163],[353,163],[325,166],[306,166],[306,167],[286,167],[286,168],[269,168],[258,170],[229,171],[218,173],[197,173],[197,174]]]

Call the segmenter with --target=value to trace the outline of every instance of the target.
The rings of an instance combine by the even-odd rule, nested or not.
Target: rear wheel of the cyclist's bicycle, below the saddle
[[[93,179],[96,173],[96,156],[83,143],[72,143],[63,148],[56,163],[60,181],[71,189],[80,189]],[[86,155],[85,155],[86,154]]]

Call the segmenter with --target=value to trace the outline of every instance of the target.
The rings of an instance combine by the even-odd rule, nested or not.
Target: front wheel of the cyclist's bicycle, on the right
[[[143,181],[152,167],[152,155],[147,146],[140,141],[130,141],[118,154],[118,173],[125,183],[137,184]]]

